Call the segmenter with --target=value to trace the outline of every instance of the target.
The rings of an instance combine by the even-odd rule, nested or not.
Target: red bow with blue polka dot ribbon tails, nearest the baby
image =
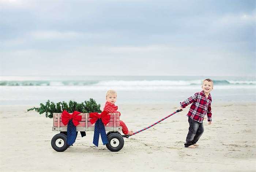
[[[105,110],[98,114],[97,112],[90,113],[89,116],[91,124],[94,124],[94,135],[93,135],[93,144],[98,147],[99,145],[99,134],[101,134],[101,140],[103,145],[108,143],[108,137],[105,130],[105,125],[109,123],[110,115]]]

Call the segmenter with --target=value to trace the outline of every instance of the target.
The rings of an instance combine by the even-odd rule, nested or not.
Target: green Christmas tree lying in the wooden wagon
[[[73,113],[75,110],[81,113],[101,113],[100,107],[101,105],[97,104],[92,98],[90,98],[89,101],[84,101],[82,103],[77,103],[70,100],[68,104],[64,101],[55,104],[54,102],[50,102],[50,100],[48,100],[45,102],[45,105],[40,103],[40,107],[33,107],[27,109],[27,111],[29,112],[31,110],[35,110],[35,112],[38,112],[39,114],[45,113],[46,118],[52,118],[53,113],[62,113],[63,110],[67,110],[69,113]]]

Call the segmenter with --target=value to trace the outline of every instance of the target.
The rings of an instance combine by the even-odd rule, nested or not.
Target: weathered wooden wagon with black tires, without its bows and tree
[[[106,147],[112,151],[117,152],[121,150],[124,146],[125,135],[121,135],[122,127],[120,126],[120,115],[119,113],[109,113],[110,120],[107,125],[105,125],[105,130],[107,133],[109,143],[106,144]],[[82,115],[82,120],[79,121],[79,124],[76,126],[76,131],[83,132],[93,132],[94,124],[91,124],[89,118],[89,113],[80,113]],[[51,144],[52,148],[57,152],[65,151],[69,145],[67,144],[67,125],[64,125],[61,120],[61,113],[53,113],[53,127],[52,131],[60,132],[53,136]]]

